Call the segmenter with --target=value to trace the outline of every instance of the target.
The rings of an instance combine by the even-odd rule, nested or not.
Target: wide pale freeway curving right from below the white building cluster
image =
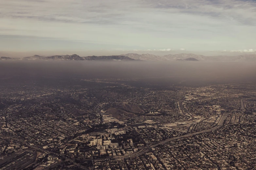
[[[212,132],[213,130],[216,130],[216,129],[219,129],[223,126],[223,123],[224,121],[226,120],[226,118],[228,117],[230,113],[224,113],[222,116],[221,116],[221,119],[220,121],[218,122],[218,124],[208,130],[203,130],[203,131],[199,131],[199,132],[195,132],[195,133],[192,133],[192,134],[187,134],[187,135],[182,135],[182,136],[177,136],[177,137],[173,137],[173,138],[170,138],[170,139],[166,139],[166,140],[163,140],[161,142],[158,142],[154,145],[151,145],[149,146],[148,148],[144,148],[144,149],[141,149],[140,151],[138,152],[134,152],[134,153],[131,153],[131,154],[127,154],[127,155],[124,155],[124,156],[114,156],[114,157],[111,157],[112,159],[125,159],[125,158],[133,158],[133,157],[137,157],[137,156],[140,156],[140,155],[143,155],[144,153],[148,152],[150,149],[154,148],[154,147],[157,147],[159,145],[162,145],[164,143],[167,143],[167,142],[170,142],[170,141],[173,141],[173,140],[177,140],[177,139],[181,139],[181,138],[185,138],[185,137],[190,137],[190,136],[193,136],[193,135],[199,135],[199,134],[202,134],[202,133],[208,133],[208,132]],[[139,149],[139,148],[138,148]],[[108,159],[111,159],[111,158],[107,158],[107,159],[100,159],[100,160],[108,160]]]

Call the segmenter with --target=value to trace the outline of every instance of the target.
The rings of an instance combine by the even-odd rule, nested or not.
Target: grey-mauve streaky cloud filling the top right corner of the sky
[[[163,11],[172,10],[194,16],[204,15],[209,19],[230,20],[245,25],[256,24],[256,1],[254,0],[149,0],[148,4],[154,8],[161,8]]]

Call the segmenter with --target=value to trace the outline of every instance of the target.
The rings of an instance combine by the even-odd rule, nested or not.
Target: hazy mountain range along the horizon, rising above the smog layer
[[[54,56],[40,56],[34,55],[30,57],[24,58],[10,58],[10,57],[0,57],[0,60],[99,60],[99,61],[248,61],[255,62],[256,54],[243,54],[237,56],[204,56],[197,54],[168,54],[164,56],[157,56],[152,54],[136,54],[136,53],[128,53],[121,55],[111,55],[111,56],[87,56],[80,57],[77,54],[73,55],[54,55]]]

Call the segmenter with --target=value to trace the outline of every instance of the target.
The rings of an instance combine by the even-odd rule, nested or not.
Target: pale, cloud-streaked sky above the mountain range
[[[0,56],[256,52],[256,0],[0,0]]]

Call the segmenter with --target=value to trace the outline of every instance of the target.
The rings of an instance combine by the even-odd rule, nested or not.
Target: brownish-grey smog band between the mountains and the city
[[[254,63],[248,62],[118,62],[118,61],[5,61],[0,62],[0,78],[15,81],[42,78],[154,79],[159,84],[186,80],[194,83],[256,81]],[[22,80],[24,79],[24,80]],[[150,80],[151,81],[151,80]],[[171,85],[170,83],[168,85]]]

